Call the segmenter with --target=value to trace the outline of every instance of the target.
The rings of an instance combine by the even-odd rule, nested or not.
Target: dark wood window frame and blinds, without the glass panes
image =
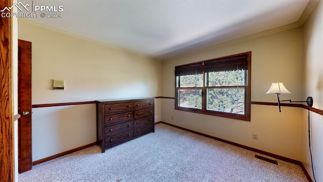
[[[232,61],[232,62],[231,62]],[[219,112],[219,111],[211,111],[206,109],[207,103],[207,96],[206,90],[207,88],[212,88],[212,86],[208,87],[205,83],[205,73],[207,73],[210,69],[217,70],[217,64],[222,67],[219,70],[229,70],[232,65],[237,63],[242,65],[243,69],[247,71],[247,85],[239,86],[244,87],[245,91],[245,104],[244,104],[244,114],[234,114],[234,113],[226,113],[226,112]],[[216,66],[214,66],[214,64]],[[201,66],[202,65],[202,66]],[[213,65],[213,66],[212,66]],[[193,88],[183,88],[178,86],[177,76],[189,75],[189,74],[203,74],[203,86],[202,87],[193,87]],[[231,86],[228,86],[231,87]],[[194,109],[194,108],[186,108],[180,107],[178,105],[178,92],[179,89],[202,89],[202,109]],[[221,58],[215,58],[205,61],[200,61],[196,63],[190,63],[186,65],[180,65],[175,67],[175,110],[180,111],[187,111],[187,112],[194,112],[200,114],[207,114],[213,116],[220,116],[232,119],[239,119],[244,121],[250,121],[250,107],[251,107],[251,52],[240,53],[230,56],[225,56]]]

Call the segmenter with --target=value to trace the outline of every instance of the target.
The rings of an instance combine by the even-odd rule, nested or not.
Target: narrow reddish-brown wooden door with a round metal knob
[[[18,40],[18,171],[32,167],[31,153],[31,42]]]

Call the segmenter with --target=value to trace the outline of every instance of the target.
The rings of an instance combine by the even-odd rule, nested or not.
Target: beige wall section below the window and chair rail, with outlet
[[[251,109],[251,122],[248,122],[174,110],[174,100],[163,99],[161,120],[244,146],[301,160],[301,109],[282,107],[282,113],[278,113],[278,108],[273,106],[251,105]],[[258,140],[252,139],[252,133],[258,134]]]

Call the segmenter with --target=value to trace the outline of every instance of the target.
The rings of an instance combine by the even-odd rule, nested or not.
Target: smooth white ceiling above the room
[[[30,2],[30,1],[21,1]],[[33,0],[62,18],[29,18],[157,59],[298,22],[310,0]]]

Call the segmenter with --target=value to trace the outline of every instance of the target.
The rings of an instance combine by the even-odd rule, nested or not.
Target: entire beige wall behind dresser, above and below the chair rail
[[[158,60],[26,20],[18,25],[19,39],[32,42],[32,104],[160,96]],[[65,80],[65,90],[53,90],[52,79]],[[95,104],[32,112],[33,161],[96,141]]]

